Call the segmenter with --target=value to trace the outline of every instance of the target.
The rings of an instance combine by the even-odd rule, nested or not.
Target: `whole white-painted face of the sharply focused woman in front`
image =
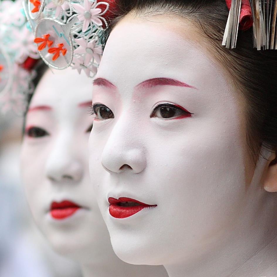
[[[183,25],[124,18],[94,82],[90,172],[113,249],[132,264],[189,264],[247,205],[244,102]]]

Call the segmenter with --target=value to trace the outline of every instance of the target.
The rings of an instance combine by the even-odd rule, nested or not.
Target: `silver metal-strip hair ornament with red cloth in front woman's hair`
[[[230,9],[222,45],[235,48],[238,30],[253,26],[253,46],[257,50],[277,49],[276,0],[226,0]]]

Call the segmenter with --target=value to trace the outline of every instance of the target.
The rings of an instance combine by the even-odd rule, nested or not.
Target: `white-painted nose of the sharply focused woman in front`
[[[129,171],[138,174],[145,169],[146,151],[140,132],[139,134],[135,132],[134,124],[129,125],[118,121],[114,125],[104,146],[101,163],[104,169],[110,173]]]

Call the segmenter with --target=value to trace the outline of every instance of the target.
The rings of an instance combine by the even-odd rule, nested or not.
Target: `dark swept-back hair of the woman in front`
[[[208,39],[210,51],[230,72],[246,100],[247,144],[254,163],[262,145],[277,151],[277,50],[256,50],[252,28],[239,31],[237,48],[222,46],[229,13],[225,0],[116,0],[115,4],[113,19],[103,34],[104,47],[113,28],[131,11],[183,16],[196,23]]]

